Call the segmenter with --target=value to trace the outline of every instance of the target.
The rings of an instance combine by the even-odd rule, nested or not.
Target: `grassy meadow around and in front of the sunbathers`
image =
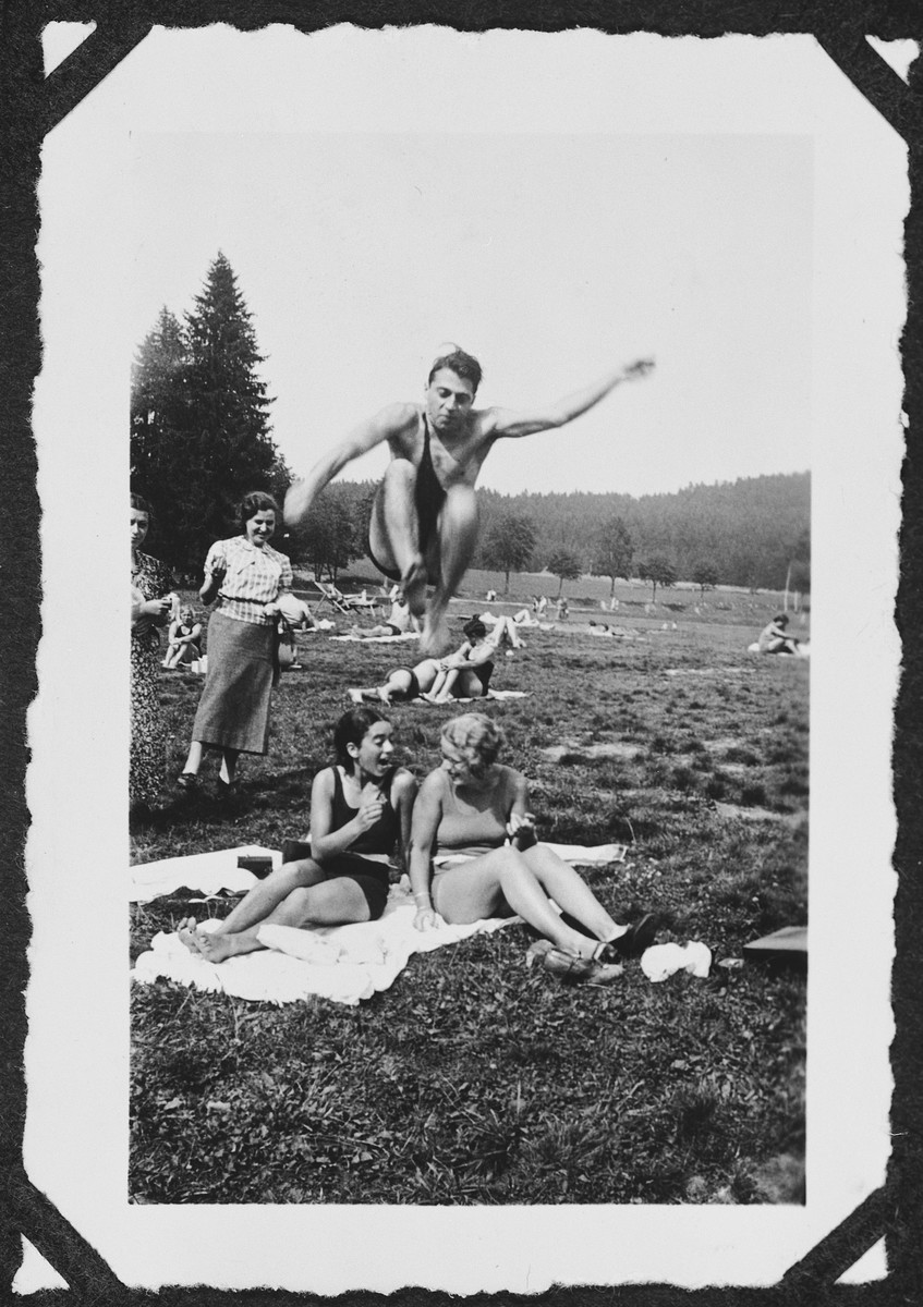
[[[599,606],[571,597],[566,629],[528,631],[501,660],[497,686],[529,697],[486,711],[544,838],[630,844],[624,864],[587,873],[613,915],[656,910],[663,940],[702,940],[718,962],[807,920],[808,664],[744,652],[777,596],[664,596],[680,597],[682,610],[647,612],[650,591],[625,587],[616,639],[592,635]],[[456,601],[454,623],[481,606]],[[344,687],[413,647],[301,643],[272,754],[242,761],[234,810],[209,771],[200,799],[133,831],[133,860],[303,834]],[[163,678],[176,771],[200,687]],[[422,776],[445,714],[391,715]],[[133,908],[132,957],[187,911],[182,894]],[[514,925],[414,957],[357,1009],[135,985],[135,1201],[801,1200],[803,976],[748,963],[655,985],[631,963],[609,988],[574,988],[527,970],[528,942]]]

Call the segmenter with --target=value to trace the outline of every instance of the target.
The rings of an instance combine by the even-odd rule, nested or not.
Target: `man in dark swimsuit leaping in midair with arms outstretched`
[[[420,646],[435,656],[447,647],[448,600],[477,542],[475,482],[494,440],[565,426],[599,404],[622,382],[646,376],[650,359],[607,372],[592,386],[529,413],[476,409],[481,365],[462,349],[442,354],[430,369],[424,403],[399,403],[362,422],[285,497],[285,519],[297,525],[314,499],[348,463],[387,440],[391,463],[369,523],[369,557],[400,583],[416,617],[424,617]],[[426,586],[434,586],[426,603]]]

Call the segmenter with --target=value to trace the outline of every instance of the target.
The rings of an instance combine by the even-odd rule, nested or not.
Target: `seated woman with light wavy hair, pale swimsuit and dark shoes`
[[[526,778],[497,762],[502,735],[482,712],[450,718],[442,765],[420,787],[411,831],[414,927],[519,914],[546,941],[549,971],[607,983],[652,942],[651,914],[620,925],[556,852],[539,844]],[[563,915],[552,907],[554,901]]]

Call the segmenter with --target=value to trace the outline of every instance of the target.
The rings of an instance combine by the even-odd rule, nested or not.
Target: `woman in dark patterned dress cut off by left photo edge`
[[[141,545],[150,528],[150,506],[141,495],[131,497],[132,531],[132,643],[131,643],[131,766],[128,802],[135,810],[149,806],[166,782],[166,725],[161,716],[159,637],[157,626],[170,617],[170,572]]]

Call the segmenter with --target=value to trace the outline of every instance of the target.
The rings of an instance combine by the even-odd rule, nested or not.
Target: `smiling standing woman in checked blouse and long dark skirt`
[[[269,749],[269,699],[278,677],[278,597],[292,589],[292,563],[268,541],[281,521],[272,495],[254,490],[241,503],[239,536],[217,540],[205,558],[203,604],[218,606],[208,623],[208,674],[192,724],[179,784],[192,789],[203,749],[221,750],[218,791],[229,795],[241,753]]]

